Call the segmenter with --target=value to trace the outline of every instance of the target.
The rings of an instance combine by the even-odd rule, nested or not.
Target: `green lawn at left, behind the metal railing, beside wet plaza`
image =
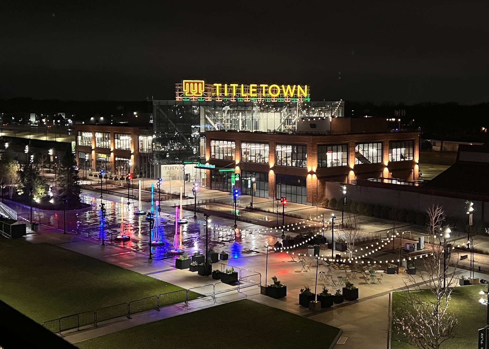
[[[48,243],[0,237],[0,299],[38,323],[181,287]]]

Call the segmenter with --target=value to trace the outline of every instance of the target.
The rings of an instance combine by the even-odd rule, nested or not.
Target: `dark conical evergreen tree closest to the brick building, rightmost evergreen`
[[[57,196],[66,196],[68,203],[73,205],[80,202],[80,176],[78,175],[78,164],[75,155],[70,150],[62,156],[58,166]]]

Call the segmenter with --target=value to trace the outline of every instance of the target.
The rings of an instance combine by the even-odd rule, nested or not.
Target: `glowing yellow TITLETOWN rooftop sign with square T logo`
[[[176,84],[177,101],[308,102],[308,85],[205,84],[203,80],[183,80]]]

